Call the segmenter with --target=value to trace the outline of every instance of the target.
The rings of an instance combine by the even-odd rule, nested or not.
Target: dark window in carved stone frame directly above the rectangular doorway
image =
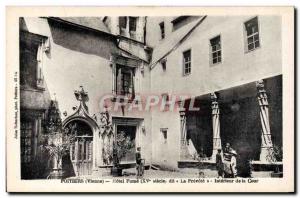
[[[134,97],[134,68],[117,65],[116,67],[116,94]]]

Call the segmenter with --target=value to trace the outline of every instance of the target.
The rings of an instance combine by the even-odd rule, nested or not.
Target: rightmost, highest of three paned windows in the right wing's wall
[[[245,30],[247,50],[251,51],[258,48],[260,43],[257,17],[254,17],[245,23]]]

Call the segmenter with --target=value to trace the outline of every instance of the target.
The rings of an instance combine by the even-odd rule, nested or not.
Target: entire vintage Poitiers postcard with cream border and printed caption
[[[294,192],[293,7],[7,7],[8,192]]]

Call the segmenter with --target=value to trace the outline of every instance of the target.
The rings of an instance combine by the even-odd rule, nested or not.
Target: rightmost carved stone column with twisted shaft
[[[273,148],[272,138],[271,138],[271,130],[270,130],[270,121],[269,121],[269,103],[268,97],[266,94],[264,81],[259,80],[256,82],[257,88],[257,99],[260,107],[260,121],[261,121],[261,153],[260,153],[260,161],[268,162],[267,158],[273,157],[270,156],[271,149]]]

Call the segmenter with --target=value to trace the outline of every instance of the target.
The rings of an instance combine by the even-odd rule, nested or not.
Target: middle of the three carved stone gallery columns
[[[220,109],[217,102],[217,96],[215,93],[210,94],[211,97],[211,109],[212,109],[212,125],[213,125],[213,152],[212,161],[216,161],[216,154],[218,149],[222,149],[221,137],[220,137]]]

